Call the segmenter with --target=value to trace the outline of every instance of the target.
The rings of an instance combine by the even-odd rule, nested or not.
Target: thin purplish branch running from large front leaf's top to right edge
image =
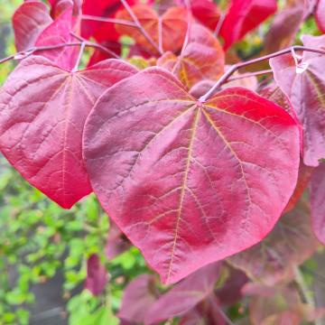
[[[320,50],[320,49],[313,49],[313,48],[309,48],[309,47],[305,47],[305,46],[292,46],[290,48],[281,50],[281,51],[276,51],[274,53],[265,55],[263,57],[260,58],[256,58],[253,60],[247,60],[246,62],[241,62],[241,63],[237,63],[234,64],[220,79],[218,79],[218,81],[216,82],[216,84],[209,89],[209,91],[204,94],[203,96],[200,97],[200,101],[201,102],[205,102],[207,101],[224,83],[226,83],[228,81],[228,79],[230,78],[230,76],[237,70],[244,68],[246,66],[249,66],[251,64],[255,64],[257,62],[261,62],[264,60],[270,60],[272,58],[281,56],[283,54],[288,54],[291,53],[293,51],[310,51],[310,52],[314,52],[314,53],[319,53],[319,54],[324,54],[325,55],[325,51]]]

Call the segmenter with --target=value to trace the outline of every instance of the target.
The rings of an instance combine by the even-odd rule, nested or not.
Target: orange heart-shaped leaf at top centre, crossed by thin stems
[[[188,28],[187,11],[182,7],[171,7],[162,16],[158,16],[149,5],[132,6],[135,16],[151,36],[153,42],[161,51],[180,51]],[[126,10],[116,14],[116,18],[133,21]],[[126,34],[135,39],[135,42],[145,49],[157,54],[144,34],[137,28],[125,25],[116,25],[117,32]]]

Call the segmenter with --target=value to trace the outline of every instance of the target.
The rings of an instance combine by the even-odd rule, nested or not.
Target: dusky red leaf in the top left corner
[[[30,49],[41,32],[52,23],[49,8],[39,1],[23,3],[14,13],[14,43],[17,51]]]

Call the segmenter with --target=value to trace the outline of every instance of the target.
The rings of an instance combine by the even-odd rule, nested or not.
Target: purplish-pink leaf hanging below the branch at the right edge
[[[320,48],[325,44],[325,36],[303,36],[305,46]],[[302,65],[308,65],[301,73],[296,71],[292,55],[282,55],[270,60],[274,79],[284,94],[290,99],[303,126],[303,162],[308,166],[318,166],[325,158],[325,78],[321,73],[325,56],[304,52]]]

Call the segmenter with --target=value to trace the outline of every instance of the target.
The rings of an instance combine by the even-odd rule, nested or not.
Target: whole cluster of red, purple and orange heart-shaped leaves
[[[243,294],[253,324],[322,315],[294,279],[325,243],[324,7],[27,0],[16,10],[18,53],[5,60],[21,61],[0,90],[2,153],[64,209],[94,191],[111,219],[107,258],[131,242],[176,283],[137,277],[121,320],[223,324]],[[240,59],[237,43],[273,15],[258,56]],[[311,21],[320,35],[286,49]],[[95,49],[87,61],[85,48]],[[271,78],[257,79],[267,60]],[[86,287],[98,295],[112,270],[100,250],[88,257]],[[88,321],[117,321],[111,312],[108,299]]]

